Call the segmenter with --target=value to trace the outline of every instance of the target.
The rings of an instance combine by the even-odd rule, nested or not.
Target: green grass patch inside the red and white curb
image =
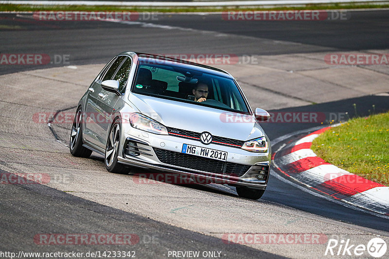
[[[311,148],[327,162],[389,186],[389,113],[351,119],[318,136]]]

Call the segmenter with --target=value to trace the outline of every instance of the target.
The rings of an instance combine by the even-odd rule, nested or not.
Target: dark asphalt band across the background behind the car
[[[221,14],[145,14],[129,22],[131,29],[127,22],[44,21],[31,15],[1,14],[0,52],[69,55],[72,65],[82,65],[106,63],[124,49],[238,56],[385,49],[389,42],[388,13],[350,11],[347,20],[324,21],[234,21],[224,20]],[[160,30],[158,26],[171,29]],[[215,32],[219,33],[216,40],[210,36]],[[0,74],[34,68],[0,66]]]

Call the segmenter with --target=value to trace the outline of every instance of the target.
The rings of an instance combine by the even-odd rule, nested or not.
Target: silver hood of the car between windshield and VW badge
[[[253,115],[139,94],[130,94],[129,100],[141,113],[169,128],[208,131],[243,141],[265,136]]]

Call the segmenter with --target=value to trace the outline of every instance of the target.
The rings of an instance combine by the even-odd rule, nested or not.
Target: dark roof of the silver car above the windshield
[[[155,54],[132,52],[132,51],[131,52],[130,51],[122,52],[118,55],[123,55],[123,54],[132,55],[132,56],[136,55],[136,56],[138,56],[138,59],[140,61],[147,60],[150,63],[153,63],[152,61],[155,61],[155,64],[160,64],[161,61],[174,62],[175,63],[174,65],[178,65],[178,66],[183,67],[183,68],[193,69],[193,70],[197,70],[200,72],[211,73],[211,74],[215,74],[215,75],[219,75],[219,76],[228,77],[228,78],[233,79],[233,77],[227,71],[220,69],[220,68],[212,67],[209,65],[202,65],[202,64],[195,63],[195,62],[181,60],[181,59],[177,59],[177,58],[164,57],[164,56],[155,55]]]

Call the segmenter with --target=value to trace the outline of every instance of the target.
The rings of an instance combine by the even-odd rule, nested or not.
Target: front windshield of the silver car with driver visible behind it
[[[174,63],[140,63],[132,92],[237,113],[249,113],[233,79]]]

